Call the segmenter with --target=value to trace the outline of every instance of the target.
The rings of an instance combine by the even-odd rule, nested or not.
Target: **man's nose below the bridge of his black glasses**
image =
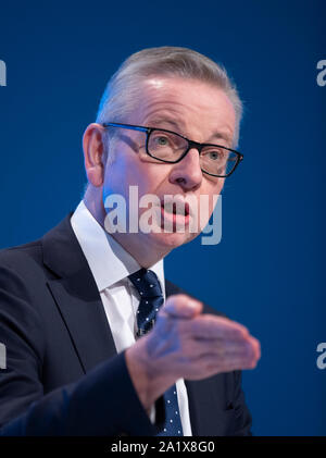
[[[196,148],[191,148],[180,162],[174,164],[170,173],[170,182],[178,184],[184,190],[196,190],[200,187],[202,171]]]

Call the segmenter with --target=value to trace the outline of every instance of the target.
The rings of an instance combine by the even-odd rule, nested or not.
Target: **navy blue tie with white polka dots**
[[[140,269],[129,275],[140,295],[137,310],[137,336],[140,337],[149,332],[154,325],[156,313],[164,302],[162,289],[153,271]],[[174,384],[164,393],[165,423],[163,431],[158,436],[181,436],[183,426],[180,421],[176,385]]]

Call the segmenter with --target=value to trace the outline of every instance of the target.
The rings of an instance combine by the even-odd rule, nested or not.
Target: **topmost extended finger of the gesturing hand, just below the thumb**
[[[193,337],[243,339],[249,337],[247,327],[224,317],[201,314],[189,326]]]

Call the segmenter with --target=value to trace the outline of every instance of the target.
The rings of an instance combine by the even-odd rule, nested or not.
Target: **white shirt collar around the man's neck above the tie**
[[[97,222],[82,200],[71,219],[73,231],[95,277],[99,292],[141,269],[141,265]],[[163,259],[155,272],[165,297]]]

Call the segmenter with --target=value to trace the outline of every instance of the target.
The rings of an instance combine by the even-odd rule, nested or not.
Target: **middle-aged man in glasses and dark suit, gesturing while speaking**
[[[251,434],[241,370],[255,367],[259,342],[163,271],[200,233],[201,197],[210,215],[242,159],[240,116],[225,71],[189,49],[145,49],[113,75],[84,135],[83,201],[0,255],[1,434]],[[130,187],[156,197],[151,231],[130,231]],[[111,231],[112,196],[126,202],[127,231]],[[148,209],[137,211],[140,222]],[[193,262],[191,281],[203,268]]]

